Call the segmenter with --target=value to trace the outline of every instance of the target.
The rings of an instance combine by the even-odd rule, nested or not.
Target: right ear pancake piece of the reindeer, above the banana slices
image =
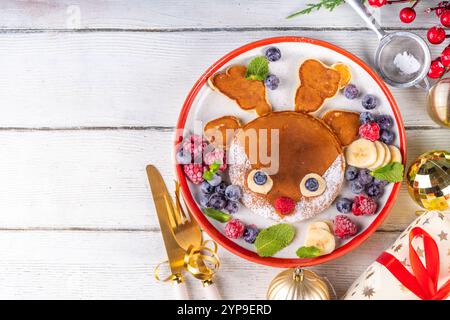
[[[345,110],[329,110],[322,120],[333,130],[343,146],[358,138],[359,113]]]

